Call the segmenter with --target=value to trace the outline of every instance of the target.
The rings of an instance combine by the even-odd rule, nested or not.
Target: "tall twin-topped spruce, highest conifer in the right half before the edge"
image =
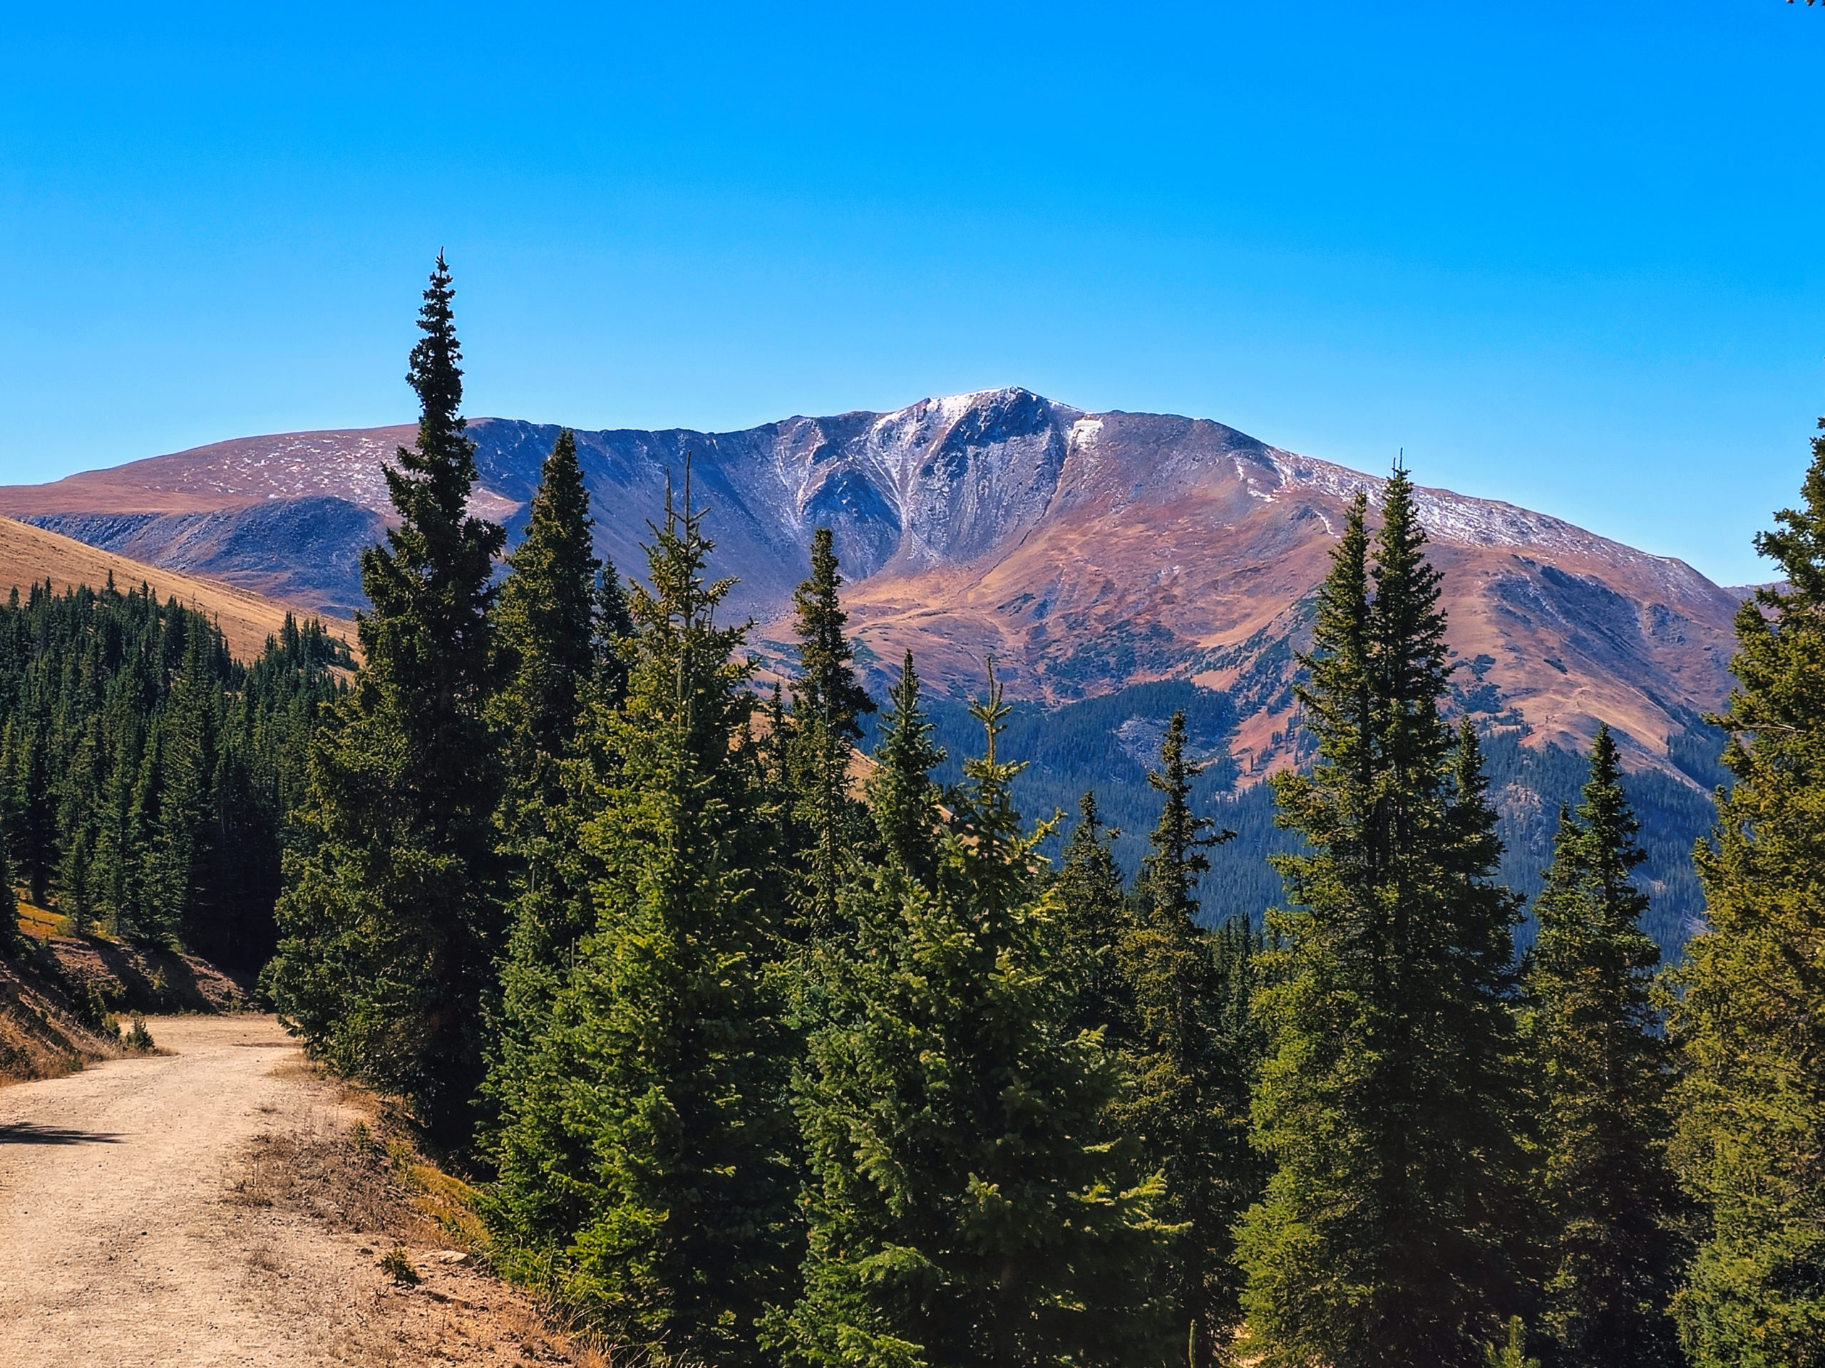
[[[1511,928],[1475,733],[1438,700],[1438,573],[1403,471],[1372,593],[1358,494],[1299,688],[1319,759],[1279,775],[1290,907],[1268,917],[1254,1138],[1274,1173],[1241,1228],[1268,1368],[1475,1364],[1515,1301]],[[1469,750],[1467,750],[1469,748]]]

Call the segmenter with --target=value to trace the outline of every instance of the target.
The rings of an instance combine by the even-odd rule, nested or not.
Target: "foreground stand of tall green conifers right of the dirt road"
[[[655,1363],[1821,1363],[1825,445],[1670,978],[1608,733],[1517,956],[1403,471],[1319,595],[1283,905],[1212,930],[1183,715],[1132,885],[1091,797],[1040,854],[993,666],[960,782],[911,655],[858,761],[829,533],[772,689],[688,467],[622,580],[560,436],[496,586],[451,299],[266,983],[478,1171],[500,1270]]]

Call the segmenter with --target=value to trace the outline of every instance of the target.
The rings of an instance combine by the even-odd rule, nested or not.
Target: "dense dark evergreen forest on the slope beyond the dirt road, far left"
[[[175,598],[36,584],[0,607],[0,859],[78,934],[257,969],[305,742],[350,664],[287,617],[252,664]]]

